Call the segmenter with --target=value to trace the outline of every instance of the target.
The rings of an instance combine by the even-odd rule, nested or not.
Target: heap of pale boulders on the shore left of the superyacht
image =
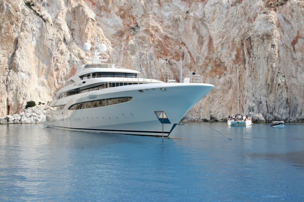
[[[55,110],[49,105],[36,105],[24,109],[19,114],[7,115],[0,118],[0,124],[33,124],[42,123],[48,111]]]

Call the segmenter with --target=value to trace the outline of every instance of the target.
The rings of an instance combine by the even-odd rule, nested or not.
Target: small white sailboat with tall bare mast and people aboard
[[[249,126],[252,125],[251,114],[240,116],[239,113],[239,68],[237,68],[237,114],[235,116],[229,115],[227,117],[228,126]]]

